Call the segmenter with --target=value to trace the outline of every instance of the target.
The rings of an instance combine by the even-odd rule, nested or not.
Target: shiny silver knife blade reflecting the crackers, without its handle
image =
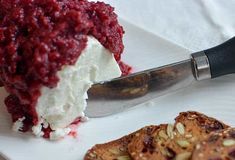
[[[85,114],[91,118],[109,116],[194,82],[191,59],[113,79],[88,91]]]

